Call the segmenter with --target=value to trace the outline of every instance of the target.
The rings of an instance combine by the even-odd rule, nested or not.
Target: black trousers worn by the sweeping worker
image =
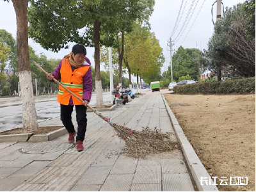
[[[75,132],[75,127],[72,123],[72,112],[74,106],[60,105],[60,119],[68,132]],[[77,137],[76,141],[84,141],[85,132],[87,128],[87,108],[85,106],[76,106],[76,120],[77,120]]]

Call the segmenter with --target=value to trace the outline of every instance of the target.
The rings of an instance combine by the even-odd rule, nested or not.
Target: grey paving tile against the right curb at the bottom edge
[[[163,173],[163,191],[195,191],[188,173]]]

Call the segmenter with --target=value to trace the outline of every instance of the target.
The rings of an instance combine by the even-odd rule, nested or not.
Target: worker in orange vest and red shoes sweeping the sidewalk
[[[47,78],[52,81],[54,78],[71,92],[83,99],[83,102],[67,90],[60,86],[58,92],[58,102],[60,103],[61,121],[66,127],[69,143],[74,143],[76,137],[76,148],[83,151],[83,141],[87,128],[86,111],[87,105],[92,97],[92,69],[90,60],[86,57],[86,48],[84,45],[74,45],[72,52],[60,61],[60,65],[49,74]],[[76,106],[77,132],[72,123],[72,112]]]

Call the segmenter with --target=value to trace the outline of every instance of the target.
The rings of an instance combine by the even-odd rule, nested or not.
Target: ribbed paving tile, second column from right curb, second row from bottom
[[[161,184],[161,181],[161,165],[137,166],[134,184]]]

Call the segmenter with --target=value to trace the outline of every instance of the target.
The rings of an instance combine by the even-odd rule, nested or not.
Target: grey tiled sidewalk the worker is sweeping
[[[102,114],[137,131],[157,127],[172,132],[172,140],[177,141],[160,93],[148,92],[124,108]],[[54,118],[40,123],[45,125],[62,124]],[[65,145],[67,138],[54,142]],[[31,143],[0,143],[0,191],[195,191],[181,150],[145,160],[125,157],[120,154],[124,141],[93,113],[88,113],[84,152],[75,148],[46,154],[19,151],[28,145],[33,147]]]

